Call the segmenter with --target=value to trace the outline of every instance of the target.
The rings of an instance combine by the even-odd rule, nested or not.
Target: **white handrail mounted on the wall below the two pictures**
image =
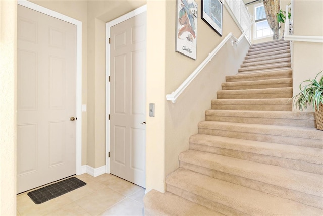
[[[202,69],[207,65],[208,62],[212,60],[212,58],[218,53],[218,51],[228,42],[230,38],[233,38],[234,40],[231,40],[231,44],[234,43],[238,44],[242,38],[245,36],[248,29],[252,26],[253,22],[251,22],[250,26],[243,32],[243,34],[237,39],[231,32],[221,41],[221,43],[211,51],[206,59],[192,72],[192,74],[187,77],[187,79],[171,94],[166,95],[166,100],[172,101],[173,103],[176,102],[176,99],[181,95],[181,93],[187,88],[187,86],[195,79],[195,77],[202,71]],[[251,42],[246,37],[246,39],[249,42],[249,45],[251,46]]]

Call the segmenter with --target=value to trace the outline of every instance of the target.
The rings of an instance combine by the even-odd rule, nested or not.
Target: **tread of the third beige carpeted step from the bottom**
[[[182,152],[179,155],[179,160],[211,170],[323,197],[323,188],[321,187],[323,178],[318,174],[195,150]]]

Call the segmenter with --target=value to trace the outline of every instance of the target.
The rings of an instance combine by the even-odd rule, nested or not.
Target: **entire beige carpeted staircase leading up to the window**
[[[146,215],[323,215],[323,132],[292,112],[290,43],[253,45]]]

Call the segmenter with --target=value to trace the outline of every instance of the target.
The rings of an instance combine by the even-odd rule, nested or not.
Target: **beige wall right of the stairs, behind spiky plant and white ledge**
[[[323,36],[322,14],[323,1],[294,1],[294,35]],[[293,94],[300,92],[299,84],[302,81],[314,79],[316,74],[322,70],[323,43],[294,41]]]

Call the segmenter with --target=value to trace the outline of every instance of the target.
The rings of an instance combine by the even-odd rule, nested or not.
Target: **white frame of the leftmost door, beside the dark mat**
[[[80,175],[82,174],[82,22],[27,0],[18,0],[18,4],[76,25],[76,175]]]

